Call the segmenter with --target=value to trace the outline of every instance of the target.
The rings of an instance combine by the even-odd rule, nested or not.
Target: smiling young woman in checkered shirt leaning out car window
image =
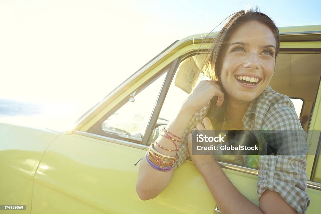
[[[231,16],[210,50],[206,72],[212,81],[195,87],[143,158],[136,184],[142,200],[161,193],[172,169],[191,154],[191,130],[302,130],[291,100],[268,86],[279,47],[279,31],[265,14],[243,10]],[[234,187],[217,157],[191,158],[224,214],[305,213],[309,203],[305,137],[299,137],[302,143],[295,156],[259,157],[259,207]]]

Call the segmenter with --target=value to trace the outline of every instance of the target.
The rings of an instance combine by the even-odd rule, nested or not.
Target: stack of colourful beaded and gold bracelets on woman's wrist
[[[166,149],[166,148],[162,147],[161,145],[159,145],[156,141],[154,141],[146,152],[146,159],[147,159],[147,162],[149,163],[149,165],[151,167],[153,167],[154,169],[167,172],[174,167],[174,163],[177,158],[177,155],[174,157],[163,155],[154,149],[154,145],[157,145],[159,148],[166,150],[166,151],[178,151],[178,146],[176,145],[175,141],[180,143],[181,142],[180,140],[182,140],[182,138],[176,136],[175,134],[170,133],[165,128],[163,128],[163,131],[164,132],[161,133],[160,135],[173,141],[176,149],[175,150]],[[175,139],[172,136],[175,138],[178,138],[178,139]],[[155,158],[156,158],[156,160],[155,160]]]

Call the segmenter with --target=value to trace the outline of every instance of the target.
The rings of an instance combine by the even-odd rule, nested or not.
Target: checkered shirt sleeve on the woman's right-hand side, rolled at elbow
[[[296,130],[280,132],[296,135],[290,137],[291,143],[282,143],[282,140],[279,140],[281,143],[276,142],[279,155],[259,157],[257,194],[260,199],[266,189],[275,191],[299,214],[306,213],[310,202],[306,193],[307,134],[301,127],[290,98],[280,94],[277,97],[278,101],[269,108],[262,127],[266,130]]]

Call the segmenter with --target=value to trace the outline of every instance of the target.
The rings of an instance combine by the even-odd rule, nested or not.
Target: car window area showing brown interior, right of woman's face
[[[292,98],[301,125],[306,131],[309,129],[319,86],[320,62],[320,54],[280,53],[270,82],[273,90]]]

